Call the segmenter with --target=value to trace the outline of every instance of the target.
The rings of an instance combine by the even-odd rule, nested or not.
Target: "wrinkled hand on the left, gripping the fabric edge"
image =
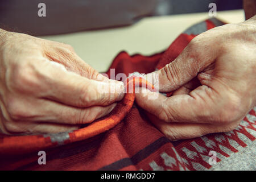
[[[110,82],[71,46],[1,29],[0,73],[0,126],[6,134],[78,129],[110,113],[123,97],[122,82]],[[98,92],[99,85],[116,92]]]

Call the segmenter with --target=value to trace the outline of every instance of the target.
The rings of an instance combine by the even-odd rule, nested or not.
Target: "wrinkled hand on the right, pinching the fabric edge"
[[[196,36],[157,73],[159,91],[173,96],[148,100],[143,90],[136,101],[169,139],[235,129],[256,104],[256,16]]]

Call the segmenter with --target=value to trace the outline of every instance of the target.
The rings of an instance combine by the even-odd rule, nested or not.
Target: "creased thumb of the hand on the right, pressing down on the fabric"
[[[203,71],[211,60],[214,60],[213,50],[205,49],[205,41],[200,38],[201,36],[204,35],[193,39],[170,64],[147,75],[152,77],[152,74],[158,74],[160,92],[171,92],[180,88],[196,77],[197,73]],[[152,84],[155,84],[155,81]]]

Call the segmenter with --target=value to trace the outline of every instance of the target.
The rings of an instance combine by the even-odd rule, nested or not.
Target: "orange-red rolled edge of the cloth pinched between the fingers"
[[[64,144],[94,137],[95,135],[112,129],[112,127],[122,121],[122,119],[127,113],[129,113],[131,107],[133,106],[135,100],[135,86],[145,86],[151,91],[154,91],[154,86],[141,77],[133,76],[127,78],[125,85],[127,93],[125,94],[125,97],[123,97],[123,100],[119,102],[117,106],[115,106],[113,111],[105,118],[94,121],[89,126],[83,127],[79,130],[71,131],[67,134],[64,133],[64,135],[68,135],[68,137],[63,141]],[[130,91],[130,88],[133,88],[133,90]],[[52,141],[50,136],[44,135],[2,135],[0,140],[0,154],[26,154],[28,152],[34,152],[54,147],[57,146],[57,144],[59,143],[57,141]]]

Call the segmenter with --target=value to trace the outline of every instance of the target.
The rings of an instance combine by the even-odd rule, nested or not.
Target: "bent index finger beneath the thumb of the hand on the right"
[[[156,100],[148,100],[151,94],[153,92],[143,88],[141,93],[136,94],[136,102],[142,109],[165,122],[210,123],[215,121],[212,114],[218,115],[217,111],[221,108],[217,94],[204,85],[190,94],[166,97],[158,93]]]

